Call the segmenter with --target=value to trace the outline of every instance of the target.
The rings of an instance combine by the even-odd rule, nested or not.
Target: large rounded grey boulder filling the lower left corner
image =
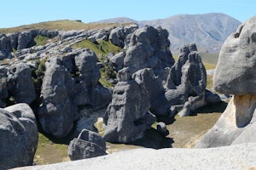
[[[29,105],[0,109],[0,169],[32,165],[38,147],[38,127]]]

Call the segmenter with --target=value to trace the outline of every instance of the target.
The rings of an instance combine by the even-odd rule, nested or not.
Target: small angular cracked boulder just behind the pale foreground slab
[[[106,142],[95,132],[83,129],[79,137],[68,146],[68,156],[72,161],[106,155]]]

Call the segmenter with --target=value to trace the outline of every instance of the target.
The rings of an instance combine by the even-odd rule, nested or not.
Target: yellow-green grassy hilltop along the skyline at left
[[[131,24],[131,23],[130,23]],[[85,24],[83,22],[78,22],[76,20],[55,20],[55,21],[47,21],[40,22],[37,24],[31,24],[26,26],[17,26],[13,28],[2,28],[0,29],[0,34],[6,34],[15,31],[30,31],[35,29],[47,29],[47,30],[91,30],[91,29],[100,29],[100,28],[108,28],[112,26],[126,26],[129,23],[125,24]]]

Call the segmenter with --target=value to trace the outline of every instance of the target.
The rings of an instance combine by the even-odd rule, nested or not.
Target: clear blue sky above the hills
[[[255,8],[255,0],[3,0],[0,28],[47,20],[154,20],[176,14],[207,13],[228,14],[242,22],[256,15]]]

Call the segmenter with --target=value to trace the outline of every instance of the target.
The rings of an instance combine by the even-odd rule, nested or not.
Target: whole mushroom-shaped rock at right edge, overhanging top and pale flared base
[[[256,142],[255,26],[253,17],[224,42],[213,84],[219,92],[234,95],[218,122],[196,145],[198,148]]]

